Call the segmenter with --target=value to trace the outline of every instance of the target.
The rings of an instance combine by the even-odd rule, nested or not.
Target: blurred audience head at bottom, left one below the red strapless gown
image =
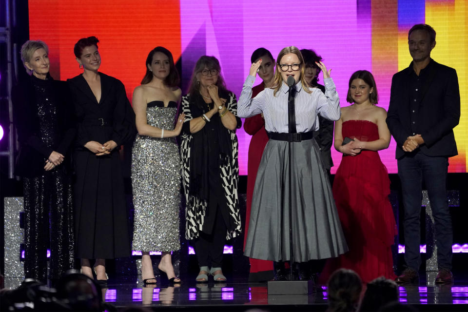
[[[362,281],[356,272],[338,269],[331,274],[327,286],[327,311],[356,311],[362,291]]]

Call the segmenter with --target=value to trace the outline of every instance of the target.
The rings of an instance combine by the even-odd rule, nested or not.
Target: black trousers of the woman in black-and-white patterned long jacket
[[[198,238],[194,240],[195,254],[200,267],[221,268],[226,231],[226,224],[218,206],[211,234],[200,231]]]

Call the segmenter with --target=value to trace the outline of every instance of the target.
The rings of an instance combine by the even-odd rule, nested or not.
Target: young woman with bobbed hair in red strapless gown
[[[375,106],[377,88],[370,72],[355,72],[349,85],[347,101],[353,104],[342,108],[335,122],[334,146],[343,158],[333,196],[350,251],[327,262],[320,276],[323,283],[338,268],[354,270],[363,282],[395,277],[390,247],[397,229],[388,197],[390,179],[377,152],[390,143],[387,112]],[[347,137],[353,141],[342,145]]]

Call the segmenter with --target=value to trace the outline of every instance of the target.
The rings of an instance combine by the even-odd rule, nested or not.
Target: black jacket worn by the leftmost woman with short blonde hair
[[[57,105],[56,118],[59,134],[55,146],[47,146],[40,138],[36,91],[32,79],[34,77],[20,81],[12,90],[13,120],[20,142],[20,154],[16,160],[15,175],[23,177],[43,175],[45,173],[45,160],[53,151],[65,156],[65,160],[60,166],[70,171],[70,146],[75,138],[76,127],[68,85],[65,81],[51,81],[52,94]]]

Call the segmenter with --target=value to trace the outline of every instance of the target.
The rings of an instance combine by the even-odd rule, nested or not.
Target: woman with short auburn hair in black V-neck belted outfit
[[[74,152],[75,228],[82,273],[107,283],[105,259],[130,255],[127,209],[118,150],[135,137],[135,114],[116,78],[98,72],[96,37],[79,39],[75,56],[83,74],[69,79],[78,133]]]

